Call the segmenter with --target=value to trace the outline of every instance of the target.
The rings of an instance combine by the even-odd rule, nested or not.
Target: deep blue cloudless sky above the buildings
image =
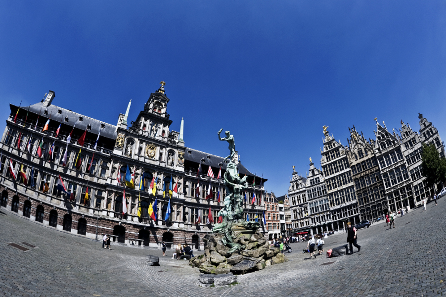
[[[128,4],[131,3],[131,4]],[[188,147],[241,162],[284,195],[318,166],[322,126],[347,144],[418,112],[446,140],[445,1],[0,0],[0,118],[53,104],[116,124],[166,81]]]

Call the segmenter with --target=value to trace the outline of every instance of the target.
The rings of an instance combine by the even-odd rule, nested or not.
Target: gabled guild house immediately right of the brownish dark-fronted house
[[[384,182],[389,210],[399,211],[406,206],[407,198],[412,196],[412,187],[407,163],[401,151],[401,138],[395,129],[393,133],[376,121],[375,155],[378,160],[381,177]]]

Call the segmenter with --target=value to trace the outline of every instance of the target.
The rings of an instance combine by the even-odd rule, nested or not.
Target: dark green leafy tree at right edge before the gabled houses
[[[431,187],[442,183],[446,179],[446,159],[440,158],[440,153],[434,145],[423,144],[421,152],[423,161],[423,176],[426,178],[426,186]]]

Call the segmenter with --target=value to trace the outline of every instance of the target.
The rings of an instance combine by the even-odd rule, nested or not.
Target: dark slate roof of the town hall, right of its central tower
[[[201,162],[202,165],[211,165],[211,167],[214,168],[220,168],[220,163],[222,163],[222,170],[226,170],[226,163],[223,162],[223,157],[216,156],[213,154],[209,154],[207,152],[199,151],[193,148],[185,148],[184,150],[184,158],[186,161],[199,163],[201,162],[201,159],[204,159],[204,162]],[[256,185],[259,183],[260,185],[260,179],[261,176],[255,175],[252,172],[250,172],[245,166],[242,165],[242,163],[238,163],[237,168],[240,169],[240,176],[246,175],[256,177]],[[215,172],[214,172],[215,173]],[[206,174],[206,172],[203,171],[203,174]],[[262,182],[266,182],[266,178],[262,178]]]

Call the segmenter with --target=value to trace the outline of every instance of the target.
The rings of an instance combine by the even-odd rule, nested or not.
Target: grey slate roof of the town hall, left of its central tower
[[[90,124],[91,129],[88,130],[89,133],[98,134],[99,130],[101,129],[101,124],[104,124],[104,128],[101,131],[101,137],[110,138],[110,139],[116,139],[117,137],[117,127],[115,125],[110,125],[105,122],[98,121],[96,119],[90,118],[88,116],[82,115],[80,113],[50,104],[47,107],[43,106],[43,102],[39,102],[36,104],[33,104],[29,107],[29,112],[35,113],[36,115],[39,115],[40,118],[39,122],[42,123],[45,121],[49,116],[51,115],[51,121],[55,122],[61,122],[62,126],[70,126],[73,127],[76,123],[76,129],[85,130],[87,129],[87,126]],[[11,111],[13,113],[16,112],[18,106],[9,104],[9,107],[11,108]],[[28,107],[20,107],[23,111],[27,111]],[[47,109],[48,114],[44,114],[45,109]],[[62,111],[62,113],[59,113],[59,109]],[[22,111],[21,111],[22,112]],[[65,117],[68,116],[68,122],[65,122]],[[82,116],[83,120],[79,121],[79,117]],[[50,121],[50,122],[51,122]]]

